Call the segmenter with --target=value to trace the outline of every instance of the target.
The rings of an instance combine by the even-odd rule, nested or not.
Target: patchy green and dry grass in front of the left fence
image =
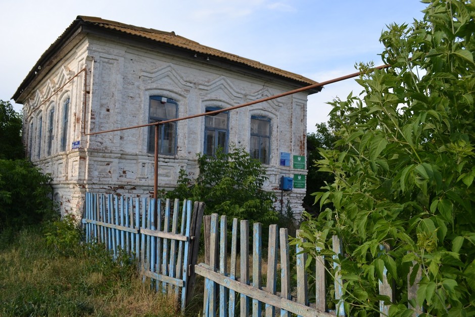
[[[1,316],[180,316],[127,256],[51,237],[39,225],[0,233]]]

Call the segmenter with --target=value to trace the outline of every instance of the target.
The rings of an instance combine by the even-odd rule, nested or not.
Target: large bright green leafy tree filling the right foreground
[[[320,170],[335,181],[315,198],[333,208],[308,216],[312,247],[304,247],[315,254],[326,237],[341,237],[347,256],[336,261],[350,315],[378,314],[385,268],[398,289],[391,315],[410,313],[408,279],[419,286],[411,303],[426,314],[475,314],[475,5],[424,3],[423,21],[383,32],[391,68],[360,65],[363,99],[333,103],[339,140],[321,151]],[[322,252],[330,250],[325,243]]]

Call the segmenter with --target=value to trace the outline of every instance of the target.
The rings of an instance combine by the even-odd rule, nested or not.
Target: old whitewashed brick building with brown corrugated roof
[[[227,108],[314,83],[173,32],[78,16],[13,98],[23,104],[27,156],[51,173],[62,212],[79,214],[86,190],[153,190],[152,128],[89,132]],[[303,179],[284,192],[302,211],[307,170],[297,160],[305,161],[307,96],[316,92],[162,125],[159,188],[173,188],[180,168],[196,175],[197,153],[234,145],[265,164],[268,190],[279,188],[281,176]]]

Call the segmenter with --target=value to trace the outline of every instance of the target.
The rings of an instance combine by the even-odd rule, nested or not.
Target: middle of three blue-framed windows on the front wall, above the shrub
[[[206,107],[206,112],[219,110],[218,107]],[[227,140],[229,134],[229,113],[220,112],[205,116],[205,145],[206,155],[215,156],[216,149],[221,148],[227,153]]]

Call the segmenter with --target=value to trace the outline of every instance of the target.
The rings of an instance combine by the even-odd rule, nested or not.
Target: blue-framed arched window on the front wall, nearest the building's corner
[[[170,98],[151,96],[149,105],[149,123],[174,119],[177,116],[178,104]],[[158,126],[158,153],[175,155],[176,153],[176,122]],[[147,151],[155,152],[155,125],[149,127]]]

